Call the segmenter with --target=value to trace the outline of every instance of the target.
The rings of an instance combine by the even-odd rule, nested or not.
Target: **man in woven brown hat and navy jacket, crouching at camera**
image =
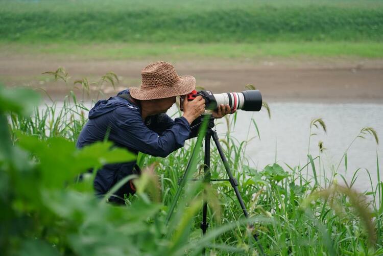
[[[184,101],[183,115],[174,121],[165,112],[176,102],[176,96],[195,89],[196,79],[178,76],[172,64],[159,61],[141,71],[140,88],[123,90],[116,97],[98,101],[89,111],[89,120],[80,133],[77,147],[82,148],[107,138],[116,147],[138,154],[166,157],[184,146],[185,140],[196,135],[190,124],[205,110],[205,100],[198,96]],[[219,106],[214,118],[230,113],[230,107]],[[198,127],[196,127],[198,128]],[[133,173],[135,162],[105,165],[94,179],[96,195],[106,194],[122,178]],[[111,201],[124,203],[124,194],[135,192],[132,183],[124,184]]]

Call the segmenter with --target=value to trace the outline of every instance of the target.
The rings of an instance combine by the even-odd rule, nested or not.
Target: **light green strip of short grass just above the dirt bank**
[[[46,56],[71,60],[383,58],[380,42],[257,43],[0,43],[3,56]]]

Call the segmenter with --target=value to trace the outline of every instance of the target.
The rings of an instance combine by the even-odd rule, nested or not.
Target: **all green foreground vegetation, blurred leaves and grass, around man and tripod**
[[[56,73],[59,75],[57,77],[65,79],[63,73]],[[82,86],[86,93],[88,86],[85,83]],[[2,99],[19,95],[3,92],[4,90],[0,94]],[[8,106],[14,106],[10,103],[17,99],[11,97],[0,110],[4,111]],[[280,166],[271,163],[264,169],[256,170],[249,165],[245,157],[246,147],[254,138],[237,141],[231,136],[230,130],[237,125],[235,114],[231,115],[224,120],[228,131],[226,136],[221,137],[221,144],[233,175],[240,184],[239,189],[251,219],[246,221],[243,218],[241,208],[227,181],[213,182],[207,187],[201,182],[187,182],[168,225],[166,216],[178,188],[178,179],[192,155],[192,148],[197,148],[198,158],[193,159],[198,164],[190,170],[195,178],[203,176],[203,165],[197,160],[203,159],[199,145],[201,140],[188,141],[184,148],[166,158],[138,155],[138,164],[141,167],[149,167],[136,183],[138,192],[135,196],[126,198],[126,207],[114,207],[95,201],[92,196],[91,175],[79,183],[68,180],[68,170],[72,170],[72,174],[73,169],[80,172],[80,164],[100,165],[98,157],[103,156],[100,159],[111,160],[108,158],[111,156],[108,151],[100,152],[100,145],[84,149],[83,153],[71,151],[81,127],[86,122],[82,111],[86,110],[86,107],[82,100],[78,100],[73,94],[69,95],[65,99],[64,108],[60,110],[63,114],[57,112],[58,109],[53,103],[47,105],[45,110],[36,108],[34,114],[29,115],[26,111],[31,110],[31,107],[27,103],[24,104],[26,109],[12,107],[12,113],[8,113],[7,126],[11,128],[15,150],[5,152],[32,153],[39,161],[34,160],[31,165],[22,165],[22,159],[25,159],[22,157],[15,158],[18,161],[17,165],[12,164],[12,160],[5,161],[1,149],[7,143],[2,144],[1,180],[6,180],[6,177],[15,187],[7,187],[1,183],[2,194],[11,196],[0,197],[0,202],[8,202],[3,204],[4,208],[15,214],[14,222],[4,219],[8,223],[7,228],[16,225],[17,221],[31,221],[31,217],[34,220],[31,223],[36,227],[24,225],[25,229],[21,229],[22,232],[13,231],[11,235],[5,236],[12,241],[4,243],[1,240],[2,244],[7,245],[2,247],[8,251],[9,248],[19,251],[27,246],[39,248],[40,253],[43,248],[58,250],[62,254],[87,255],[89,252],[103,254],[105,250],[111,250],[108,246],[112,246],[114,254],[129,251],[132,255],[195,255],[201,252],[203,246],[207,246],[208,250],[218,255],[252,255],[259,254],[258,246],[251,236],[256,231],[259,243],[267,255],[383,253],[383,182],[379,176],[379,152],[376,153],[376,177],[371,176],[375,170],[366,171],[370,180],[376,179],[377,185],[374,187],[371,182],[371,188],[361,194],[353,190],[360,170],[354,170],[352,181],[347,182],[344,178],[345,173],[338,166],[321,165],[322,151],[325,150],[323,145],[319,146],[317,153],[308,151],[306,165]],[[0,122],[0,128],[4,126],[3,121]],[[308,140],[315,143],[317,130],[324,127],[326,126],[323,120],[313,120]],[[255,121],[250,123],[249,131],[252,129],[258,130]],[[355,135],[355,138],[350,138],[350,147],[357,146],[357,141],[365,136],[374,136],[378,143],[373,128],[366,127],[360,134]],[[2,132],[1,136],[6,136],[6,133]],[[63,138],[65,142],[61,141]],[[58,150],[55,149],[60,149],[60,154],[57,154]],[[340,159],[340,162],[345,162],[345,166],[348,149],[349,147],[344,152],[345,157]],[[88,153],[92,153],[92,158],[85,158],[87,161],[83,161],[81,157],[89,157]],[[115,154],[118,156],[121,153]],[[62,166],[52,166],[57,163]],[[26,172],[29,166],[41,172]],[[4,172],[4,168],[8,168],[6,170],[9,172]],[[52,170],[55,171],[54,176]],[[218,152],[212,147],[212,178],[225,178],[222,170],[224,167]],[[66,173],[66,188],[57,181],[62,176],[58,175],[61,172]],[[8,173],[12,175],[7,176]],[[55,180],[55,188],[51,186],[52,181],[49,182],[52,179]],[[338,179],[344,179],[345,185],[339,185]],[[28,189],[18,191],[19,188],[28,185],[34,186],[33,193]],[[207,189],[204,196],[208,200],[210,223],[205,237],[201,237],[199,229],[203,188]],[[42,206],[32,200],[34,197],[41,200]],[[246,224],[249,222],[255,224],[255,230],[248,228]],[[34,239],[32,245],[35,247],[28,244],[30,240],[25,241],[28,238]],[[43,243],[44,246],[37,242]],[[17,246],[19,244],[22,246]]]

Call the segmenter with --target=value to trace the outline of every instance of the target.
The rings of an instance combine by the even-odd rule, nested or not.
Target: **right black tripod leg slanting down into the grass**
[[[227,176],[229,177],[229,181],[230,181],[231,187],[233,187],[233,189],[234,189],[235,196],[237,197],[238,202],[241,205],[241,208],[242,208],[242,211],[244,212],[245,217],[249,218],[249,213],[246,210],[246,206],[245,206],[244,200],[242,199],[242,196],[240,194],[240,190],[238,190],[238,181],[234,178],[233,174],[231,173],[231,170],[230,170],[229,164],[227,162],[226,156],[225,156],[225,154],[224,154],[224,152],[222,150],[222,147],[221,147],[221,144],[220,144],[220,141],[219,141],[219,138],[218,138],[218,134],[217,134],[216,131],[213,131],[213,130],[211,130],[211,131],[212,131],[213,141],[214,141],[214,143],[217,146],[217,150],[218,150],[218,152],[219,152],[219,154],[221,156],[222,162],[223,162],[223,164],[225,166],[225,170],[226,170]],[[254,228],[254,225],[250,225],[250,228]],[[253,237],[254,237],[254,240],[257,242],[260,254],[261,255],[265,255],[265,252],[264,252],[264,249],[262,248],[262,245],[260,245],[258,243],[258,235],[254,234]]]

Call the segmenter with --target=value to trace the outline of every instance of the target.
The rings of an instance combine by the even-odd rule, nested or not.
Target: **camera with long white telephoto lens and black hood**
[[[205,99],[205,108],[209,110],[215,110],[221,104],[228,104],[231,110],[259,111],[262,107],[262,95],[259,90],[223,92],[222,94],[212,94],[209,90],[193,90],[190,94],[180,97],[181,111],[183,111],[182,106],[185,99],[192,101],[199,95]]]

